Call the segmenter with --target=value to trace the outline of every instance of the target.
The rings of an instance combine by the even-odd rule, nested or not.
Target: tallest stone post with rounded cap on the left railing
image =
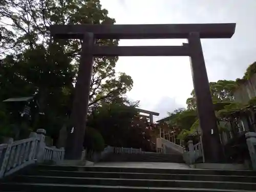
[[[37,133],[37,139],[38,139],[38,147],[36,151],[36,162],[41,163],[44,161],[44,155],[45,155],[45,135],[46,135],[46,130],[44,129],[38,129],[36,130]]]

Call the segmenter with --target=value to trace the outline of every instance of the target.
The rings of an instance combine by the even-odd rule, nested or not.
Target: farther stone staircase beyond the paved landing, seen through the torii
[[[184,163],[180,154],[110,154],[102,159],[104,162],[168,162],[168,163]]]

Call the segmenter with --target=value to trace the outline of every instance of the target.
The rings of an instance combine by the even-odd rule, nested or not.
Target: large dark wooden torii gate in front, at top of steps
[[[236,24],[160,24],[160,25],[53,25],[50,31],[59,39],[83,39],[66,145],[67,159],[80,159],[90,93],[93,57],[100,56],[189,56],[197,110],[202,129],[206,162],[218,162],[222,150],[212,104],[201,38],[231,38]],[[186,38],[182,46],[95,46],[95,39]]]

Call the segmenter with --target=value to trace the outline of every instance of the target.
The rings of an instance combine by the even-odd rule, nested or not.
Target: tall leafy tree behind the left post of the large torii
[[[44,121],[70,114],[81,40],[53,40],[49,25],[108,24],[115,19],[98,0],[5,0],[0,4],[0,99],[36,95]],[[117,46],[118,40],[97,40]],[[94,58],[89,106],[131,90],[133,80],[117,74],[117,57]]]

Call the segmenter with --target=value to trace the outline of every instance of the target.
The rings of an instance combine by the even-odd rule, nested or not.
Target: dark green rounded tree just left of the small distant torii
[[[110,103],[103,102],[94,108],[89,115],[88,126],[97,129],[102,134],[106,144],[112,146],[127,145],[127,136],[131,129],[132,119],[137,114],[134,103],[127,102],[122,102],[122,99]]]

